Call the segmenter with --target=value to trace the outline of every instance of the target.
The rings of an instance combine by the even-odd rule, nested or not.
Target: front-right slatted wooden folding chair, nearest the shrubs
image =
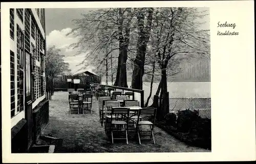
[[[139,110],[138,113],[138,120],[137,120],[137,126],[136,126],[136,133],[138,134],[138,139],[139,139],[139,144],[141,144],[140,140],[147,140],[147,139],[141,139],[140,138],[140,132],[141,131],[148,131],[148,130],[140,130],[140,127],[142,128],[142,126],[150,126],[150,131],[151,131],[151,135],[150,135],[150,139],[153,139],[154,144],[156,144],[155,142],[155,138],[154,138],[154,125],[155,125],[155,121],[156,121],[156,113],[157,113],[157,108],[152,108],[152,107],[144,107],[142,109]],[[139,117],[142,115],[153,115],[153,122],[151,121],[140,121]]]

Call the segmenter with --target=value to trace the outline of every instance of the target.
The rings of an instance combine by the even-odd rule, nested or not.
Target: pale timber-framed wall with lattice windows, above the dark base
[[[29,56],[32,57],[30,61],[32,63],[30,74],[32,108],[35,109],[46,97],[44,15],[44,9],[10,9],[12,129],[15,129],[15,125],[25,119],[25,86],[29,87],[28,80],[25,81],[25,51],[28,51]]]

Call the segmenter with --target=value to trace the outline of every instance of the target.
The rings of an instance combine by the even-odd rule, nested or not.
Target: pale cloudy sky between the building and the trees
[[[74,36],[66,36],[76,26],[73,24],[73,19],[82,18],[82,13],[88,13],[90,10],[97,10],[97,8],[46,8],[46,43],[47,48],[55,45],[65,55],[65,62],[70,64],[72,73],[76,73],[82,68],[78,66],[84,60],[84,53],[74,56],[75,49],[69,48],[69,45],[77,42]],[[206,18],[209,20],[208,18]],[[206,24],[208,28],[209,24]],[[203,27],[204,28],[204,27]],[[92,71],[93,67],[86,68]]]

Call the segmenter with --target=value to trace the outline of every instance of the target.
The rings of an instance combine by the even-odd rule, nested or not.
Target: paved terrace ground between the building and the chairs
[[[49,124],[42,134],[63,139],[62,146],[56,147],[56,153],[210,152],[188,146],[158,127],[154,128],[156,144],[153,144],[153,141],[142,141],[139,145],[137,140],[129,140],[129,145],[122,140],[116,142],[114,140],[112,144],[99,122],[98,104],[95,98],[92,114],[70,115],[68,92],[55,92],[49,107]]]

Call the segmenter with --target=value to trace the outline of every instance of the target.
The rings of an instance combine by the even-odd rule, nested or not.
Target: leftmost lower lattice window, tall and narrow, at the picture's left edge
[[[15,67],[14,67],[14,52],[10,51],[10,72],[11,72],[11,117],[15,115]]]

